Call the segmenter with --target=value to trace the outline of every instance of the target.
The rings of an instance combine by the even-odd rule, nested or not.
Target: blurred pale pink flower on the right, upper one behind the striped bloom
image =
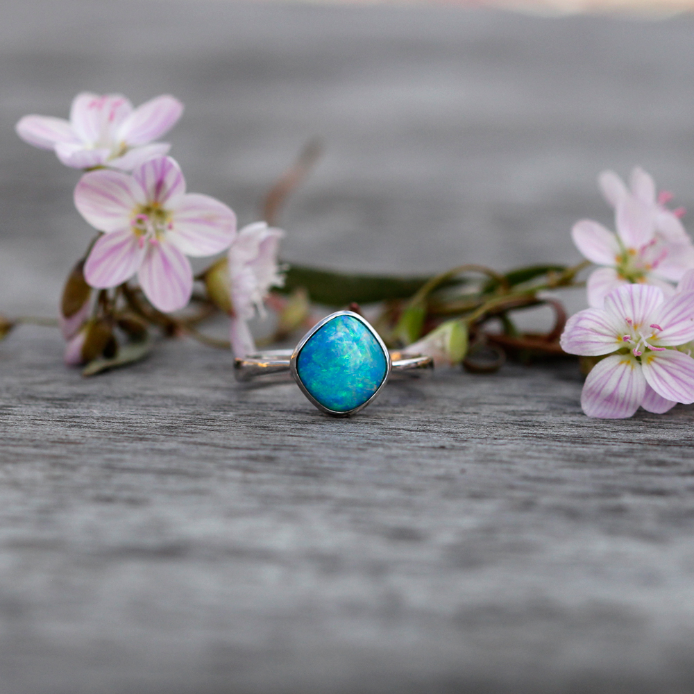
[[[588,279],[588,303],[599,308],[610,291],[629,283],[672,294],[671,282],[694,268],[694,245],[682,223],[656,200],[653,180],[641,169],[632,173],[631,192],[612,171],[600,175],[600,186],[616,208],[616,235],[589,219],[571,232],[579,251],[603,266]]]

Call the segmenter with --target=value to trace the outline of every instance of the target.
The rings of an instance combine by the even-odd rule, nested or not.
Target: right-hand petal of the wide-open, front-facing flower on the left
[[[209,195],[189,193],[173,210],[167,240],[186,255],[214,255],[226,250],[236,235],[236,215]]]

